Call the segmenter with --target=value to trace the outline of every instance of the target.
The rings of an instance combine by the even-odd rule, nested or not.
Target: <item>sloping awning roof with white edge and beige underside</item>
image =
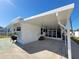
[[[36,16],[25,18],[24,21],[29,24],[33,24],[37,26],[44,25],[44,26],[56,28],[58,26],[58,20],[63,25],[67,24],[67,20],[69,20],[73,8],[74,8],[74,3]],[[56,13],[58,15],[56,15]]]

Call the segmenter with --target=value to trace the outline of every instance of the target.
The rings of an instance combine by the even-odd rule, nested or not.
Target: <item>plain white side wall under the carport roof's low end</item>
[[[33,41],[37,41],[40,37],[40,27],[33,24],[22,23],[21,34],[22,39],[19,40],[21,44],[27,44]]]

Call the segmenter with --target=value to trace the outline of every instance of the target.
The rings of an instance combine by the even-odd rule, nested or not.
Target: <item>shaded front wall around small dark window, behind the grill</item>
[[[22,39],[21,31],[17,31],[17,27],[21,27],[20,23],[14,23],[10,26],[7,26],[7,35],[17,35],[17,41],[20,41]],[[15,30],[14,30],[15,29]]]

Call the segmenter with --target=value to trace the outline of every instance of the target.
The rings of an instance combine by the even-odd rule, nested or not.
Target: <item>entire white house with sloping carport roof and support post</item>
[[[70,29],[66,25],[69,23],[73,8],[74,4],[70,4],[29,18],[19,17],[7,28],[10,32],[19,33],[17,41],[21,44],[37,41],[42,35],[56,40],[63,40],[65,37],[64,40],[68,39],[68,53],[70,55]]]

